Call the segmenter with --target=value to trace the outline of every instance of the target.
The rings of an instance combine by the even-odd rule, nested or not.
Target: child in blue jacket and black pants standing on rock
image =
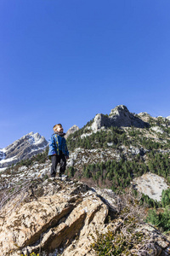
[[[61,124],[54,125],[54,134],[49,139],[48,158],[52,161],[51,177],[55,177],[59,164],[59,177],[65,172],[66,159],[69,159],[69,151],[66,146],[65,133]]]

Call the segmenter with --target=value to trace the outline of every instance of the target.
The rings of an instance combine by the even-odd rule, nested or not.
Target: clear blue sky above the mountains
[[[169,0],[1,0],[0,148],[126,105],[170,115]]]

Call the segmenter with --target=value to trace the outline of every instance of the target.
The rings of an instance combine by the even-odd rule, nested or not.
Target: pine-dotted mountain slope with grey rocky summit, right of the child
[[[89,185],[127,188],[134,177],[152,172],[170,184],[170,120],[130,113],[120,105],[67,138],[68,173]]]

